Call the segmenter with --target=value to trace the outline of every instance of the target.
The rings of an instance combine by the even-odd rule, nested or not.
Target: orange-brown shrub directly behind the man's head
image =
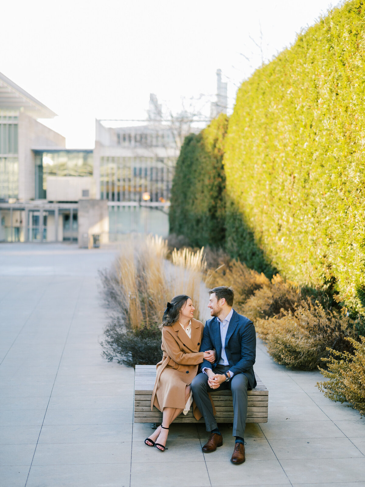
[[[235,291],[235,310],[242,313],[245,302],[262,286],[270,286],[269,279],[246,264],[232,260],[229,264],[221,264],[217,269],[207,272],[205,283],[208,287],[232,286]]]

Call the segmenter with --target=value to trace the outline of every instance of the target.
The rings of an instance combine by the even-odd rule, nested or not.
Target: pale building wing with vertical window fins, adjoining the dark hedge
[[[148,120],[108,127],[122,121],[96,120],[94,177],[96,197],[108,201],[110,239],[120,233],[168,234],[168,207],[180,144],[176,126],[162,119],[161,105],[150,94]],[[190,126],[184,128],[187,133]]]

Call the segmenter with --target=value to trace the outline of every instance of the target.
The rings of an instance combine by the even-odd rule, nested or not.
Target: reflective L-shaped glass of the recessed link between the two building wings
[[[92,150],[35,150],[36,199],[45,199],[48,176],[92,176]]]

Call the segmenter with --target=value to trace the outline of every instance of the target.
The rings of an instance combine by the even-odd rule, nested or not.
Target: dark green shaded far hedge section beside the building
[[[193,246],[224,245],[225,176],[222,166],[228,119],[219,115],[185,138],[171,190],[170,233]]]

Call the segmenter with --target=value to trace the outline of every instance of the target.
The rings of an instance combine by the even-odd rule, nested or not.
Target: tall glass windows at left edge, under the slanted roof
[[[18,117],[0,115],[0,199],[18,198]]]

